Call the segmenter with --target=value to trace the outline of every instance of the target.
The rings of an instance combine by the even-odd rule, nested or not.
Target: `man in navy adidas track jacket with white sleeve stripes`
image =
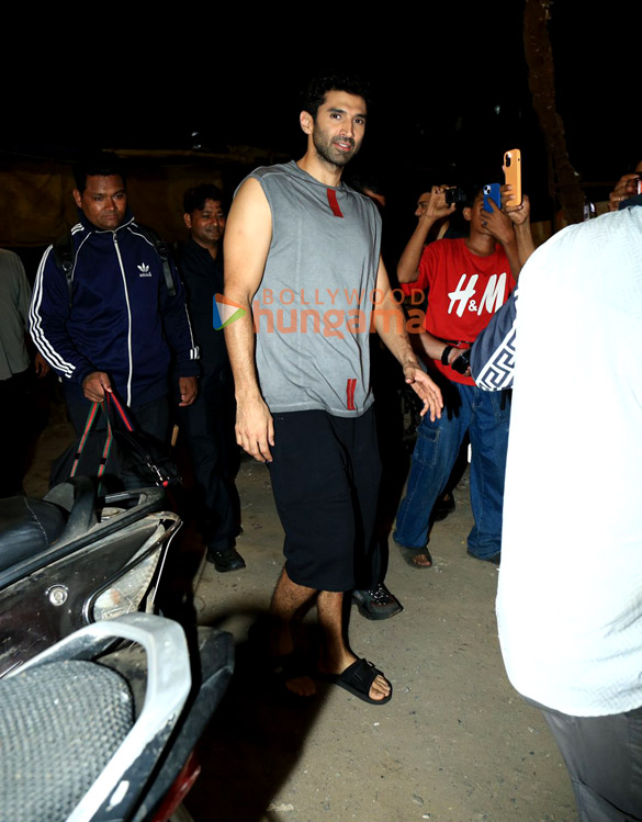
[[[71,286],[49,246],[41,261],[30,328],[61,376],[69,416],[81,431],[89,403],[115,391],[140,427],[164,440],[173,357],[180,405],[193,403],[199,374],[184,291],[173,266],[172,295],[149,235],[127,209],[121,162],[101,153],[75,169],[80,223],[71,229]]]

